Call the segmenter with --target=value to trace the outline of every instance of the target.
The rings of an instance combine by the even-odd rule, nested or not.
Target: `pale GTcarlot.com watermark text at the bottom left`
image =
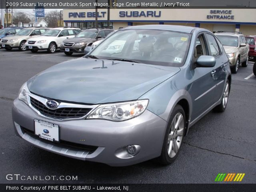
[[[37,175],[21,175],[21,174],[7,174],[5,176],[6,180],[16,180],[16,181],[54,181],[54,180],[61,180],[61,181],[77,181],[78,176],[56,176],[56,175],[46,175],[46,176],[37,176]]]

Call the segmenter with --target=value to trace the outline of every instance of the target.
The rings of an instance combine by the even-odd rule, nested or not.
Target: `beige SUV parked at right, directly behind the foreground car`
[[[238,72],[240,63],[242,63],[242,67],[248,66],[249,45],[241,32],[218,31],[215,36],[220,40],[227,53],[232,73]]]

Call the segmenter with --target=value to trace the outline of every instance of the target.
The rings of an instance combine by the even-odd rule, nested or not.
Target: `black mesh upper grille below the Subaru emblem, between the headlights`
[[[88,114],[88,112],[91,110],[91,108],[72,107],[49,109],[42,102],[32,97],[30,97],[30,103],[34,108],[40,111],[41,114],[58,119],[80,118]]]

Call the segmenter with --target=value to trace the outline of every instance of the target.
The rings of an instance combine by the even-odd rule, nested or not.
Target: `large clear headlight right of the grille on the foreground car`
[[[148,106],[149,100],[137,100],[131,102],[102,104],[94,109],[87,119],[107,119],[112,121],[124,121],[142,114]]]

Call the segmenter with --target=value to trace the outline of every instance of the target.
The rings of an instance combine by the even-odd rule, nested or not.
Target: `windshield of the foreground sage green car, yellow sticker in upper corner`
[[[189,44],[190,34],[120,30],[96,46],[89,57],[180,67],[186,60]]]

